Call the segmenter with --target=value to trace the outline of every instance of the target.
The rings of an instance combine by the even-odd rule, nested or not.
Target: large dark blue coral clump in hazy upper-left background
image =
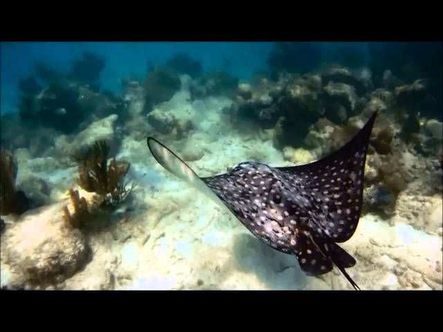
[[[21,121],[28,127],[51,127],[73,133],[93,116],[123,113],[126,105],[121,98],[106,91],[98,93],[98,79],[104,66],[105,60],[93,53],[84,53],[69,75],[37,64],[35,73],[46,86],[41,88],[33,76],[19,81]]]

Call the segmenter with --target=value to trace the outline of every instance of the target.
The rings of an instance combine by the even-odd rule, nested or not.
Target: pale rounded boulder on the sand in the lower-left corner
[[[87,243],[79,230],[66,228],[62,203],[30,210],[8,229],[10,266],[33,284],[62,282],[87,260]]]

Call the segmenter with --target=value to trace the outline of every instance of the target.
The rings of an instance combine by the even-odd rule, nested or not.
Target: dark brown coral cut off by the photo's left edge
[[[15,187],[17,163],[10,151],[0,151],[0,214],[22,214],[29,208],[28,198]]]

